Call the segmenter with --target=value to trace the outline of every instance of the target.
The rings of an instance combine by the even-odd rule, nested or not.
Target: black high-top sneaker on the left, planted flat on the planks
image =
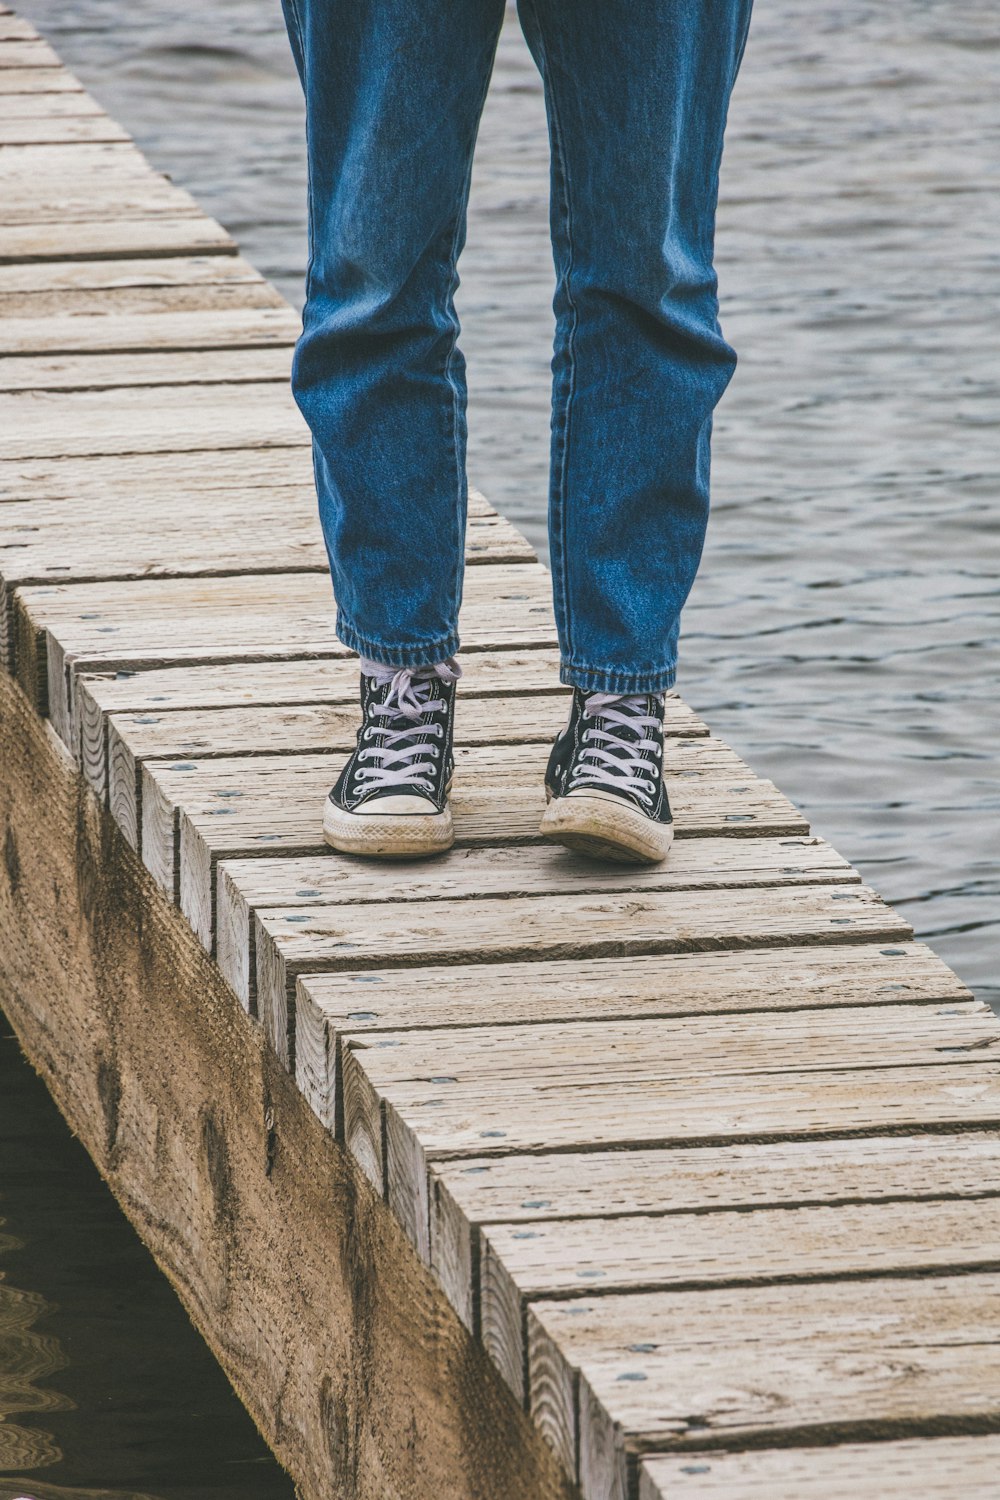
[[[387,668],[361,662],[361,728],[327,800],[322,836],[343,854],[405,858],[454,842],[457,662]]]

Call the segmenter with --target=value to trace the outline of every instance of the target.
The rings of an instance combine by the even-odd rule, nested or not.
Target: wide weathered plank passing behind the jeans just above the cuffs
[[[18,678],[67,742],[76,672],[349,654],[319,574],[55,584],[18,590],[12,608]],[[466,650],[553,645],[541,564],[471,568],[462,639]]]

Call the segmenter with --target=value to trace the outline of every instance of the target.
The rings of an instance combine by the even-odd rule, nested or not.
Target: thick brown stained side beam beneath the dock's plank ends
[[[573,1500],[399,1226],[1,672],[0,766],[4,1014],[303,1500]]]

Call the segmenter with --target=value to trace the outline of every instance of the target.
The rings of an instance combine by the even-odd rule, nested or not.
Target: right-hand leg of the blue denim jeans
[[[520,0],[552,136],[562,681],[673,686],[709,506],[715,202],[751,0]]]

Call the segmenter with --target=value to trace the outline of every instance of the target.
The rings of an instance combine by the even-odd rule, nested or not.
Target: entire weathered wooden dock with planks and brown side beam
[[[0,1000],[307,1500],[1000,1496],[1000,1022],[694,710],[543,844],[474,496],[436,862],[325,849],[298,318],[0,4]]]

